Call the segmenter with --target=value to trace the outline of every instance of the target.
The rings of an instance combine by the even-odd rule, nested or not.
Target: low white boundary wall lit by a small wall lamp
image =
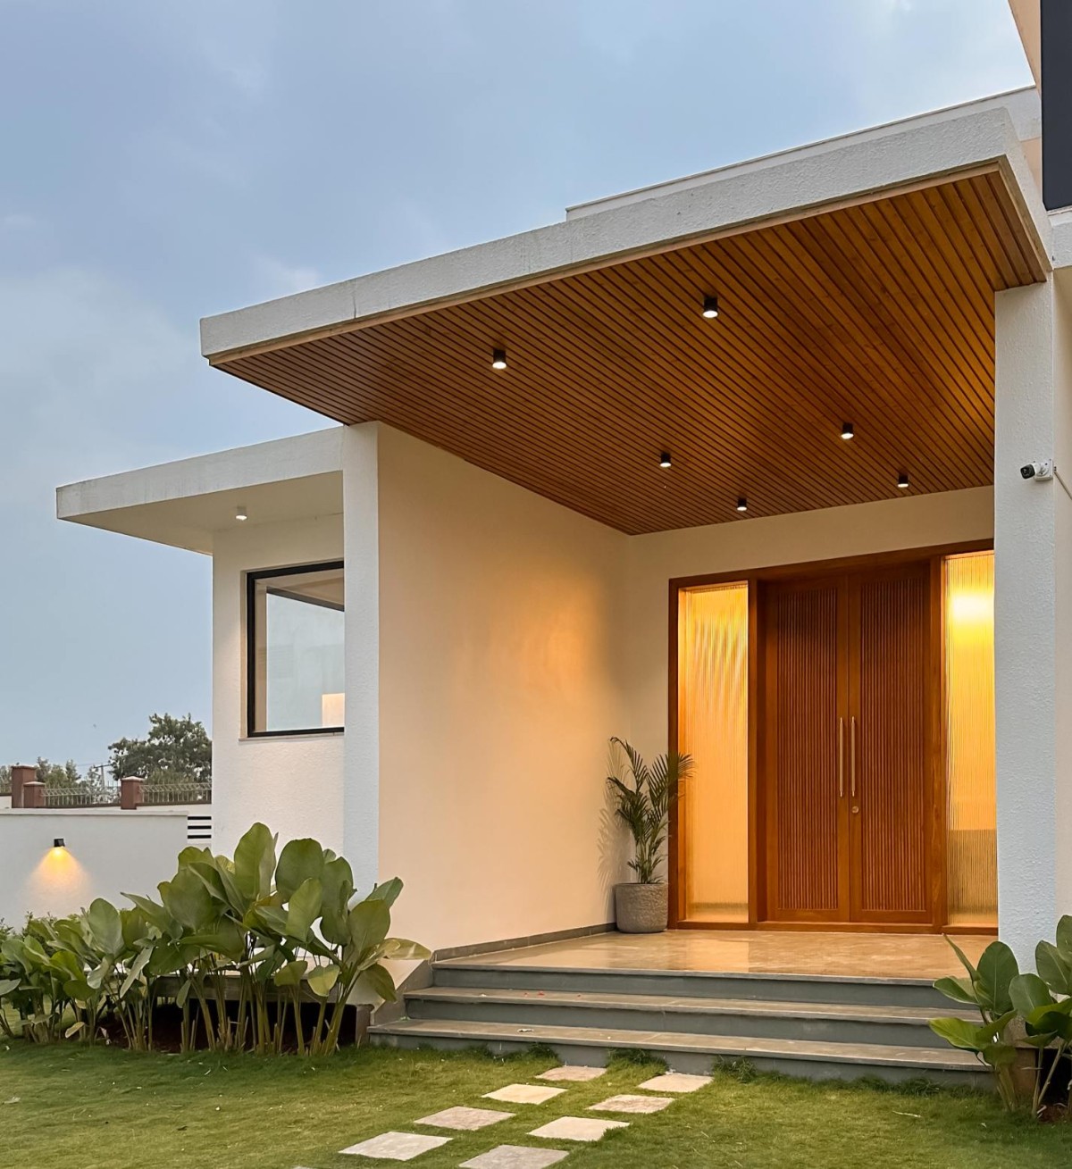
[[[65,849],[53,848],[57,836]],[[27,913],[74,913],[97,897],[126,906],[124,892],[155,895],[185,848],[185,811],[0,811],[0,919],[19,925]]]

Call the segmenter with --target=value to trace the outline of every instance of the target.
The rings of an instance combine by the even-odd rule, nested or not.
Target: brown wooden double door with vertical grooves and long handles
[[[770,582],[760,611],[762,915],[932,924],[929,563]]]

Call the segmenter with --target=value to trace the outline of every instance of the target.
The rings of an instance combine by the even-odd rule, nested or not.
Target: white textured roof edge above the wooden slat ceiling
[[[706,182],[652,194],[551,227],[359,276],[201,321],[206,357],[279,343],[303,333],[406,316],[767,220],[802,215],[998,162],[1049,255],[1049,221],[1007,104],[928,115],[727,167]]]

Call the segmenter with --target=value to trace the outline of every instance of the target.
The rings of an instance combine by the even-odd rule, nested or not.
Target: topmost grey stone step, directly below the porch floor
[[[562,990],[578,994],[657,995],[780,1003],[918,1007],[949,1015],[954,1005],[926,978],[866,978],[812,974],[738,974],[693,970],[607,970],[514,966],[450,959],[435,966],[437,987],[477,990]]]

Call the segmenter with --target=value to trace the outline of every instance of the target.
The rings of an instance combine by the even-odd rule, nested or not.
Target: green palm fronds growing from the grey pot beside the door
[[[659,758],[649,768],[639,753],[622,739],[610,740],[611,766],[607,776],[615,803],[615,815],[629,829],[634,857],[629,867],[642,885],[658,880],[658,866],[670,822],[670,808],[679,784],[692,772],[692,758],[676,750]]]

